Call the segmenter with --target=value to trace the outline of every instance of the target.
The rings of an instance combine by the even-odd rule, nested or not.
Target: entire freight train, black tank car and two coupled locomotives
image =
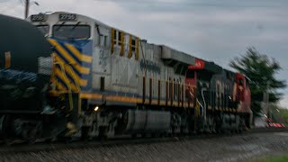
[[[80,14],[0,15],[0,137],[245,130],[247,78]]]

